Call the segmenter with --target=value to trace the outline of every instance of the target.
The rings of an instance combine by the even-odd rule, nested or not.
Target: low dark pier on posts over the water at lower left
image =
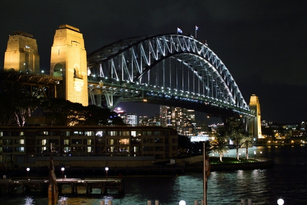
[[[108,189],[118,189],[118,193],[124,192],[124,180],[122,178],[108,178],[106,179],[57,179],[57,187],[59,194],[62,191],[62,186],[70,186],[71,193],[77,194],[78,187],[85,187],[86,194],[92,193],[93,188],[100,189],[101,194],[107,194]],[[0,179],[0,193],[12,194],[18,187],[21,187],[23,193],[29,191],[38,191],[39,193],[47,193],[49,180],[12,180]]]

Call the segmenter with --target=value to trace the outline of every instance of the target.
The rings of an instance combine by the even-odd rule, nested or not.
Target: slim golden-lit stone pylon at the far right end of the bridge
[[[249,131],[254,134],[255,138],[261,138],[261,115],[260,115],[260,103],[257,95],[252,94],[250,99],[250,110],[255,111],[255,120],[252,122],[252,126],[249,127]]]

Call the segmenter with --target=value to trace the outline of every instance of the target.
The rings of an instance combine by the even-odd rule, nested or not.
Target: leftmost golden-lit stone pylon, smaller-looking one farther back
[[[15,31],[10,35],[4,57],[4,68],[39,73],[39,55],[33,35]]]

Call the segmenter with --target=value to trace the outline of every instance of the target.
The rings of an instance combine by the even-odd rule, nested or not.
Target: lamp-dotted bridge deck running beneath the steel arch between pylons
[[[214,117],[238,117],[240,115],[254,117],[254,111],[231,105],[221,99],[205,95],[184,92],[176,89],[164,89],[163,87],[148,86],[139,83],[107,83],[105,81],[94,81],[89,79],[89,95],[96,104],[97,97],[100,105],[113,100],[113,107],[119,101],[135,101],[156,105],[168,105],[173,107],[184,107],[195,111],[205,112]],[[107,98],[110,99],[107,99]],[[111,99],[111,97],[113,99]],[[105,101],[101,101],[101,100]]]

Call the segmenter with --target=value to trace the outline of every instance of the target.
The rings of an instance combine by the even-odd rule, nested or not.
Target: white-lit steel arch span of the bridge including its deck
[[[191,36],[128,38],[87,55],[87,62],[89,92],[98,106],[101,96],[111,109],[120,100],[156,97],[159,100],[151,103],[197,107],[194,110],[216,116],[226,111],[226,115],[254,116],[222,60]]]

